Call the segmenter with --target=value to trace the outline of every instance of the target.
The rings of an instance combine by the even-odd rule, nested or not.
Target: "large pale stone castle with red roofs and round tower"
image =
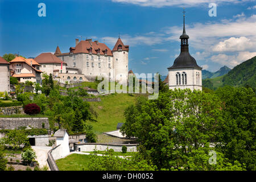
[[[67,63],[67,73],[84,75],[89,81],[97,76],[109,78],[110,81],[127,81],[129,46],[119,38],[113,50],[106,44],[92,39],[76,39],[76,46],[69,52],[61,53],[59,46],[55,56]]]

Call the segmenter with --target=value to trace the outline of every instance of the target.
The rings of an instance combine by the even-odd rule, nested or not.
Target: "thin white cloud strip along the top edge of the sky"
[[[240,3],[239,0],[112,0],[118,3],[130,3],[139,6],[164,7],[164,6],[199,6],[209,3]]]

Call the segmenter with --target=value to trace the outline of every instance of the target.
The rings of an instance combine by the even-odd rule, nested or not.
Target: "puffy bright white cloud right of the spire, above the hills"
[[[224,40],[223,42],[219,42],[215,46],[213,46],[213,51],[216,52],[226,52],[226,51],[245,51],[248,48],[254,46],[254,43],[251,42],[250,39],[245,36],[241,36],[240,38],[229,38]]]

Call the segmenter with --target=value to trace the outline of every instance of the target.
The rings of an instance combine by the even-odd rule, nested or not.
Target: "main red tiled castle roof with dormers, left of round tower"
[[[97,54],[98,48],[100,48],[100,55],[105,55],[105,50],[107,50],[107,55],[113,56],[111,49],[104,43],[92,42],[91,40],[81,40],[79,44],[73,49],[73,53],[89,53],[89,48],[92,48],[92,53]]]

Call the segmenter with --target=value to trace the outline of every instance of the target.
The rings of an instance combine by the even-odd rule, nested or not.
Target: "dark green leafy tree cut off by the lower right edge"
[[[231,162],[245,163],[248,170],[256,170],[256,94],[253,89],[225,86],[216,90],[224,102],[225,123],[218,135],[217,147]]]

